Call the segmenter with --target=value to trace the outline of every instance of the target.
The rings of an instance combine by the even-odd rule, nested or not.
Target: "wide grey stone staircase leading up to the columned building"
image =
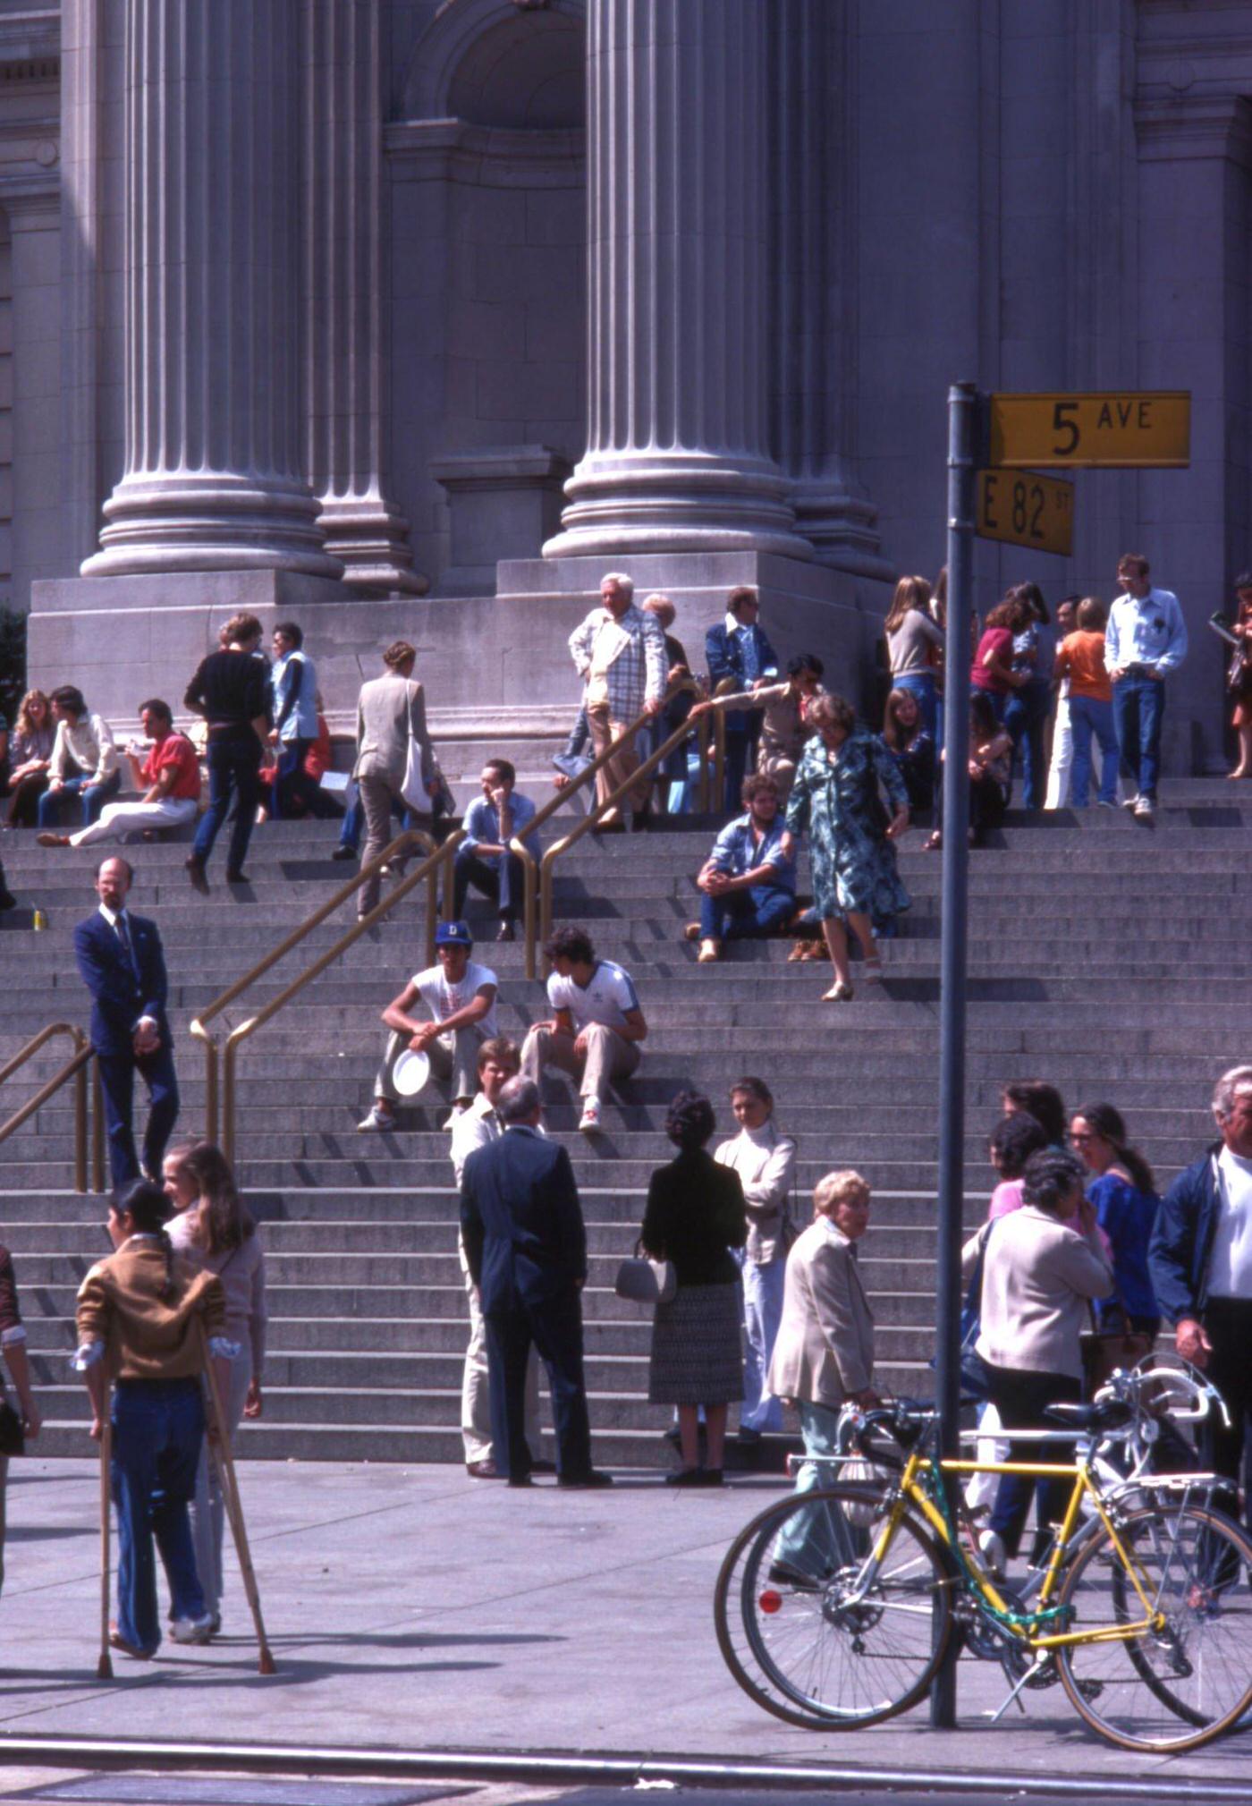
[[[538,789],[529,786],[535,795]],[[1118,813],[1010,816],[974,856],[970,878],[968,1203],[990,1188],[985,1145],[999,1085],[1046,1076],[1070,1103],[1107,1098],[1167,1181],[1209,1136],[1214,1075],[1248,1058],[1239,950],[1252,926],[1252,796],[1174,782],[1154,827]],[[558,818],[560,822],[560,818]],[[553,824],[553,827],[558,825]],[[780,1125],[799,1140],[799,1210],[831,1167],[874,1187],[862,1248],[878,1317],[878,1376],[925,1392],[934,1345],[939,860],[911,834],[902,869],[914,896],[887,946],[887,982],[853,1004],[818,1001],[824,966],[786,963],[786,943],[739,946],[697,968],[679,939],[692,874],[714,824],[685,818],[647,834],[584,838],[558,867],[556,908],[584,921],[602,954],[631,968],[650,1035],[643,1066],[587,1143],[553,1080],[549,1127],[569,1147],[591,1243],[587,1373],[596,1459],[652,1465],[667,1414],[645,1401],[649,1322],[612,1293],[634,1243],[647,1178],[668,1158],[665,1105],[706,1089],[730,1132],[726,1084],[768,1078]],[[251,883],[229,890],[220,861],[210,898],[184,878],[181,843],[130,851],[132,896],[161,925],[182,1087],[181,1131],[204,1109],[190,1019],[343,881],[332,824],[275,824],[253,840]],[[0,917],[0,1062],[45,1022],[87,1022],[72,925],[92,907],[89,852],[43,852],[4,834],[9,885],[45,912]],[[475,903],[472,899],[472,910]],[[477,905],[482,908],[482,905]],[[237,1024],[276,993],[350,919],[350,905],[302,955],[240,999]],[[482,921],[484,934],[490,923]],[[481,948],[500,975],[500,1020],[522,1037],[544,1013],[520,946]],[[363,1136],[383,1004],[423,963],[421,899],[360,941],[249,1042],[240,1064],[240,1178],[264,1219],[271,1335],[266,1418],[242,1452],[273,1459],[461,1459],[464,1291],[446,1109],[416,1107],[394,1134]],[[38,1057],[4,1089],[7,1116],[65,1058]],[[103,1205],[72,1192],[70,1098],[60,1093],[0,1145],[0,1241],[14,1255],[47,1454],[83,1452],[85,1394],[67,1369],[81,1273],[105,1252]]]

